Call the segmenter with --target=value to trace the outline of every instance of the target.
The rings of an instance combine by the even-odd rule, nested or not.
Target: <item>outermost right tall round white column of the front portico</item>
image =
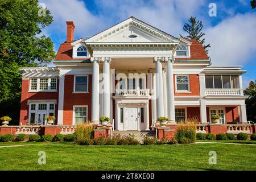
[[[175,104],[174,104],[174,71],[172,68],[172,58],[166,57],[167,61],[167,106],[168,118],[170,122],[175,122]]]

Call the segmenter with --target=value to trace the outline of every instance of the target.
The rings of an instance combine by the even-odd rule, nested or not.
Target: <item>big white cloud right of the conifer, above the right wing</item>
[[[213,65],[243,65],[256,52],[255,13],[238,14],[205,30]]]

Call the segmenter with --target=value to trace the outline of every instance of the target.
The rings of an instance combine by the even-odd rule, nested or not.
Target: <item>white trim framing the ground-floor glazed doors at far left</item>
[[[35,110],[31,110],[31,105],[32,104],[35,104]],[[39,110],[39,104],[47,104],[47,109],[46,110]],[[53,110],[50,110],[49,109],[49,105],[50,104],[53,104],[54,105],[54,109]],[[40,113],[41,111],[45,111],[45,113],[47,115],[49,115],[49,113],[53,113],[53,115],[55,116],[55,106],[56,104],[53,103],[53,102],[36,102],[36,103],[30,103],[29,104],[29,109],[28,109],[28,123],[30,123],[30,115],[31,113],[35,113],[35,123],[38,123],[38,113]]]

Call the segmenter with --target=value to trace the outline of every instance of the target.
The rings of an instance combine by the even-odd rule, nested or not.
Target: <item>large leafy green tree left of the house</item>
[[[52,23],[49,10],[38,0],[0,1],[0,115],[19,123],[21,75],[19,67],[37,67],[53,60],[51,38],[39,36]]]

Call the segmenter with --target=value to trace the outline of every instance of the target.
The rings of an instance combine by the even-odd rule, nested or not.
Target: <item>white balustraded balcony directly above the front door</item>
[[[117,89],[115,90],[115,96],[144,96],[148,97],[150,96],[149,94],[149,89]]]

